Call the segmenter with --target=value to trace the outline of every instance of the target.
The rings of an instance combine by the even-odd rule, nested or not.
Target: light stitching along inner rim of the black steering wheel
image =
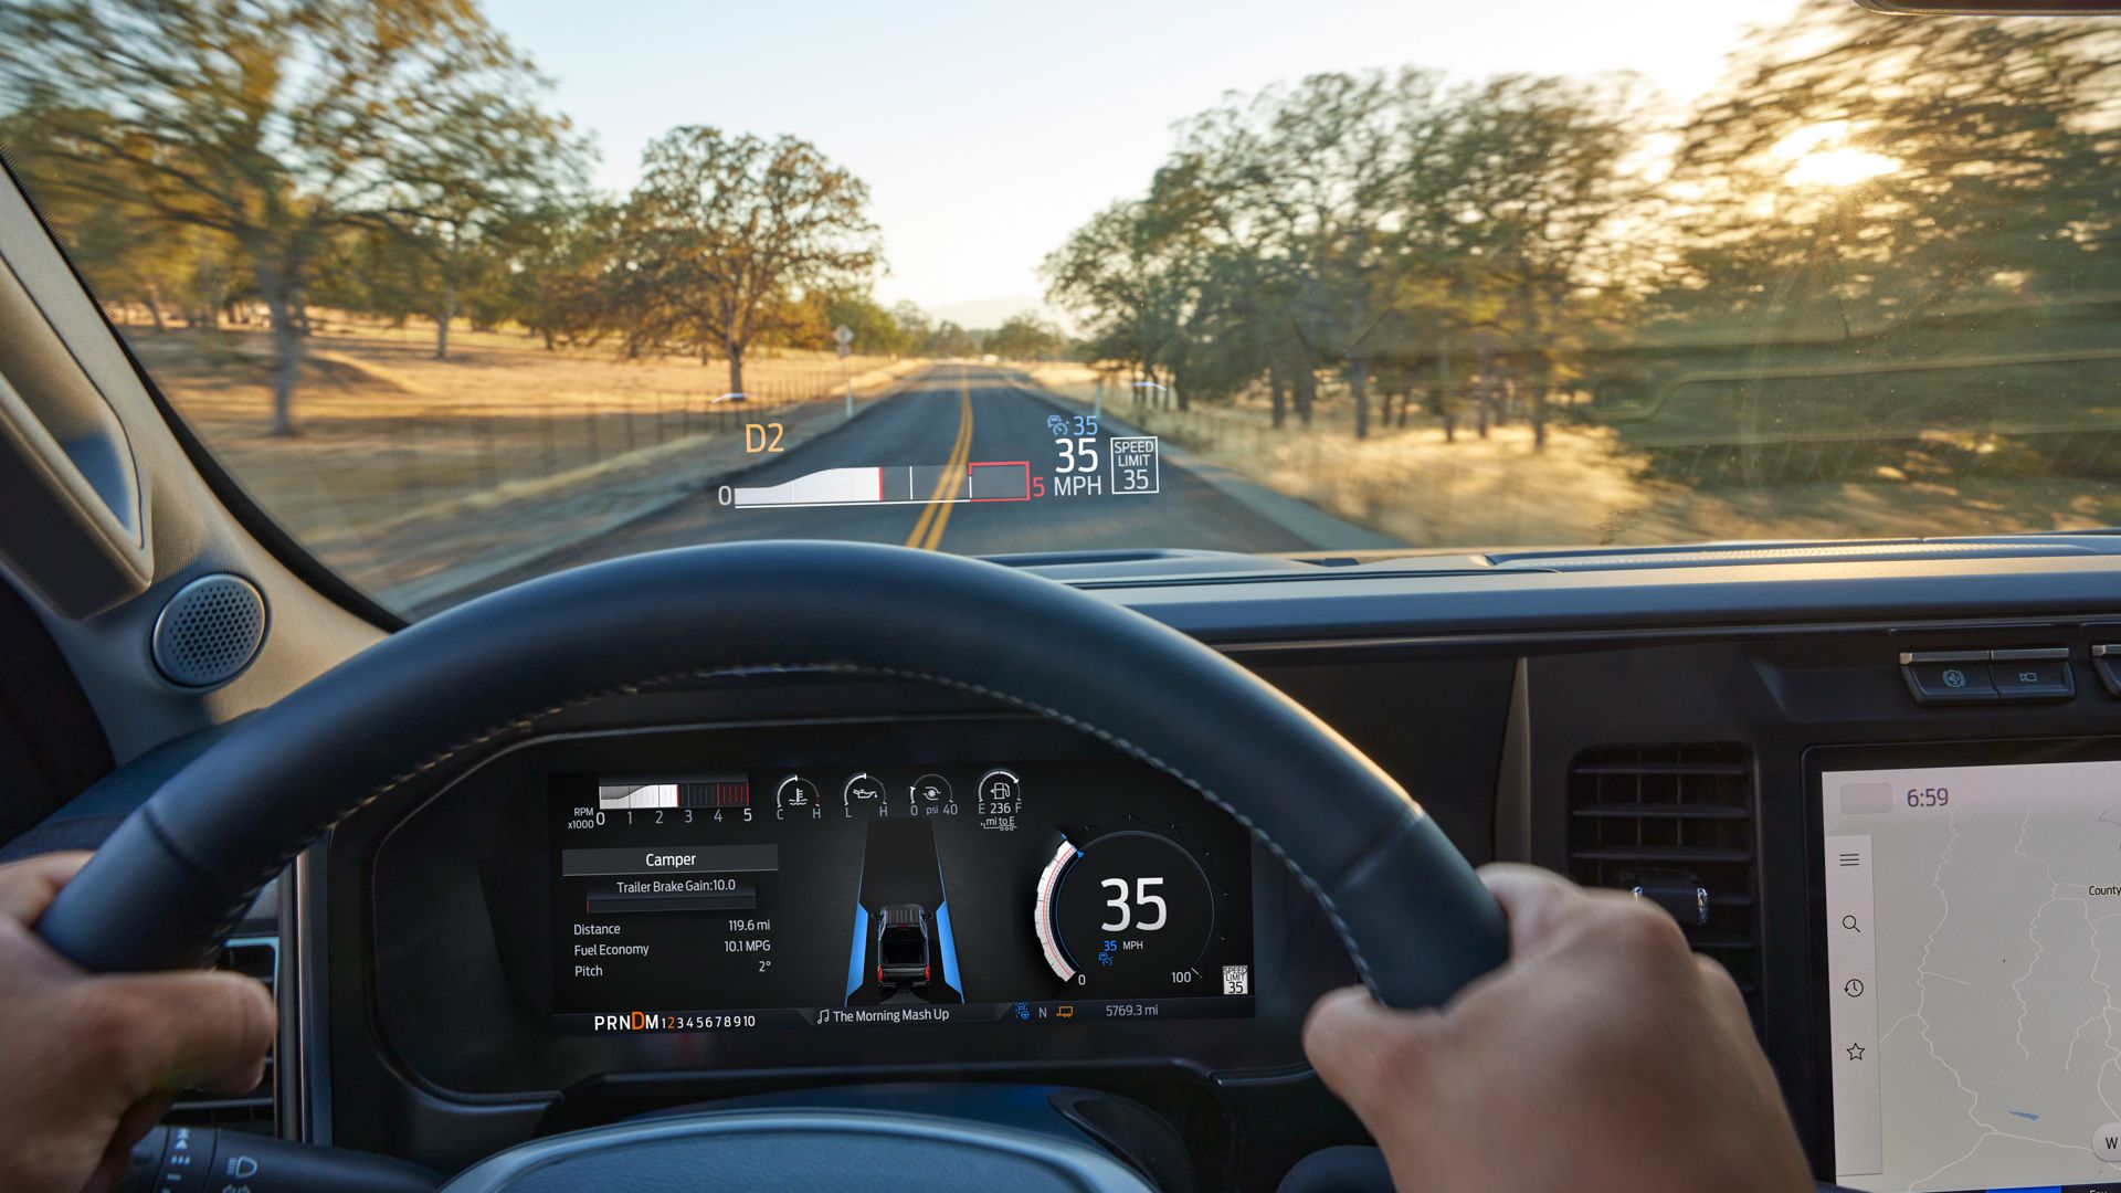
[[[825,675],[867,675],[867,677],[889,677],[889,679],[918,679],[918,681],[925,681],[925,684],[935,684],[935,686],[952,688],[952,690],[959,690],[959,692],[971,692],[976,696],[986,696],[991,701],[1001,701],[1003,705],[1012,705],[1012,707],[1018,707],[1018,709],[1024,709],[1024,711],[1033,711],[1033,713],[1039,713],[1046,720],[1060,722],[1060,724],[1065,724],[1069,728],[1088,732],[1090,737],[1097,737],[1099,741],[1103,741],[1103,743],[1107,743],[1107,745],[1124,751],[1126,756],[1135,758],[1137,762],[1145,762],[1145,764],[1162,771],[1164,775],[1171,775],[1179,783],[1186,783],[1188,788],[1192,788],[1194,792],[1198,792],[1200,798],[1205,798],[1207,802],[1215,805],[1217,809],[1222,809],[1224,813],[1228,813],[1232,819],[1237,819],[1239,824],[1243,824],[1245,830],[1249,830],[1254,836],[1258,836],[1260,843],[1264,843],[1266,849],[1275,858],[1279,858],[1281,864],[1290,868],[1290,872],[1296,875],[1296,881],[1302,883],[1304,889],[1311,892],[1311,896],[1319,900],[1319,906],[1326,909],[1326,919],[1332,921],[1334,934],[1340,936],[1340,947],[1347,949],[1347,955],[1355,962],[1355,974],[1362,976],[1362,985],[1370,987],[1372,993],[1377,991],[1377,983],[1374,983],[1374,979],[1370,974],[1370,962],[1362,955],[1362,947],[1355,945],[1355,934],[1349,930],[1347,919],[1340,917],[1340,909],[1334,904],[1334,900],[1326,892],[1326,887],[1319,885],[1300,864],[1296,864],[1296,858],[1290,858],[1287,851],[1281,849],[1281,843],[1277,843],[1273,836],[1268,836],[1258,824],[1251,822],[1251,817],[1247,817],[1245,813],[1241,813],[1234,807],[1230,807],[1228,800],[1224,800],[1222,796],[1217,796],[1215,792],[1211,792],[1209,788],[1205,788],[1203,783],[1198,783],[1196,779],[1192,779],[1190,775],[1186,775],[1184,771],[1179,771],[1177,766],[1164,762],[1162,758],[1150,754],[1147,749],[1141,749],[1139,745],[1135,745],[1133,741],[1126,741],[1124,737],[1120,737],[1116,732],[1099,728],[1099,726],[1094,726],[1094,724],[1090,724],[1090,722],[1086,722],[1082,717],[1073,717],[1069,713],[1063,713],[1060,709],[1046,707],[1046,705],[1041,705],[1037,701],[1027,701],[1022,696],[1012,696],[1007,692],[997,692],[997,690],[986,688],[982,684],[971,684],[971,681],[965,681],[965,679],[952,679],[948,675],[929,675],[929,673],[923,673],[923,671],[899,671],[899,669],[893,669],[893,667],[867,667],[867,664],[859,664],[859,662],[753,662],[753,664],[732,664],[732,667],[702,667],[702,669],[694,669],[694,671],[677,671],[677,673],[670,673],[670,675],[658,675],[658,677],[651,677],[651,679],[636,679],[632,684],[619,684],[615,688],[604,688],[604,690],[598,690],[598,692],[575,696],[571,701],[562,701],[562,703],[551,705],[551,707],[547,707],[543,711],[522,713],[522,715],[509,717],[509,720],[505,720],[505,722],[501,722],[501,724],[496,724],[496,726],[492,726],[492,728],[488,728],[488,730],[484,730],[484,732],[479,732],[479,734],[475,734],[475,737],[471,737],[467,741],[460,741],[460,743],[443,749],[441,754],[435,754],[426,762],[422,762],[422,764],[414,766],[411,771],[405,771],[403,775],[399,775],[399,777],[390,779],[388,783],[375,788],[373,792],[369,792],[358,802],[348,805],[346,809],[341,809],[339,813],[335,813],[331,819],[327,819],[322,826],[318,826],[316,830],[308,832],[303,836],[303,841],[299,841],[297,845],[291,845],[288,849],[284,849],[271,862],[271,866],[267,866],[265,877],[259,879],[255,885],[246,887],[244,894],[233,902],[233,906],[221,915],[223,928],[221,928],[221,932],[216,932],[216,936],[225,936],[242,919],[242,913],[250,906],[250,902],[257,900],[257,894],[261,889],[265,889],[265,883],[271,881],[271,877],[278,875],[288,862],[293,862],[297,853],[301,853],[303,849],[308,849],[312,841],[316,841],[318,836],[331,832],[333,828],[337,828],[339,824],[344,824],[348,817],[352,817],[361,809],[373,805],[375,800],[388,796],[390,792],[403,788],[405,783],[411,783],[414,779],[426,775],[435,766],[441,766],[443,762],[450,762],[452,758],[456,758],[458,754],[464,754],[467,749],[477,749],[477,747],[488,745],[492,741],[498,741],[501,737],[511,734],[511,732],[528,732],[530,728],[534,728],[543,720],[556,717],[556,715],[560,715],[560,713],[564,713],[568,709],[577,709],[581,705],[592,705],[596,701],[609,701],[609,698],[615,698],[615,696],[630,696],[630,694],[636,694],[636,692],[647,690],[647,688],[662,688],[662,686],[683,684],[683,681],[694,681],[694,679],[717,679],[717,677],[730,677],[730,675],[772,675],[772,673],[783,673],[783,675],[787,675],[787,673],[825,673]]]

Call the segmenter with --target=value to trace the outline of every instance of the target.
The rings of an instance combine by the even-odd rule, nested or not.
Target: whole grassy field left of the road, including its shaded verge
[[[545,350],[513,333],[325,321],[295,391],[297,435],[271,433],[263,331],[125,335],[170,403],[238,482],[363,588],[433,580],[507,543],[560,533],[621,497],[698,482],[740,461],[744,422],[778,420],[793,446],[838,422],[846,384],[874,397],[918,361],[783,352],[744,361],[747,401],[715,401],[721,361],[628,361]],[[592,495],[594,501],[583,501]],[[524,512],[532,520],[524,526]],[[543,531],[537,520],[545,518]],[[503,535],[505,537],[505,535]]]

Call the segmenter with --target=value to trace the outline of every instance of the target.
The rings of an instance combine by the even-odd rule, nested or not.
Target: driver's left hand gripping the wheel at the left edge
[[[30,932],[87,860],[53,853],[0,866],[4,1189],[106,1189],[180,1089],[240,1093],[265,1072],[274,1006],[257,981],[204,970],[91,976]]]

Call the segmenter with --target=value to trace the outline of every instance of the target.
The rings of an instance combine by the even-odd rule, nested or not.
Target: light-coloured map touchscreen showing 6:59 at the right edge
[[[2121,762],[1818,794],[1839,1182],[2121,1189]]]

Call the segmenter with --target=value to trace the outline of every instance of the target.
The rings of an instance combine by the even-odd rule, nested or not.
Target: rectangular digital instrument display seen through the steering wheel
[[[1251,1015],[1251,841],[1124,762],[554,779],[575,1032]]]

